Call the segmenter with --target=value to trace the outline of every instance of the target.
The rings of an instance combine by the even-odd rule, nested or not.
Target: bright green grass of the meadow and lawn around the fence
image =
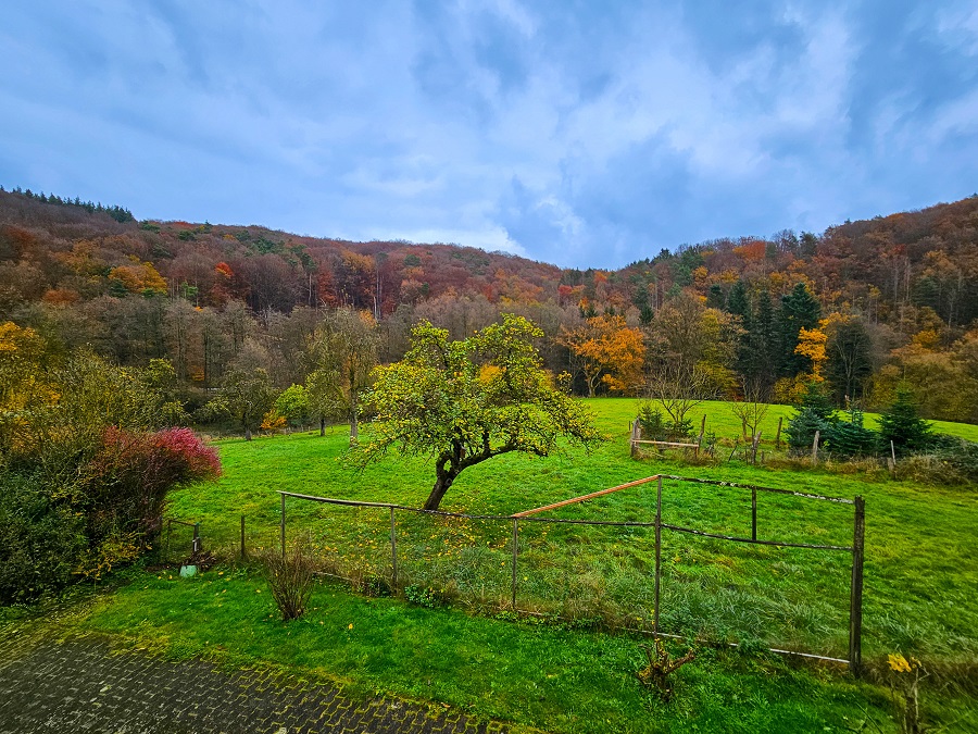
[[[974,489],[737,461],[635,461],[627,435],[636,402],[591,405],[612,439],[590,457],[500,457],[466,470],[442,509],[507,515],[660,472],[862,495],[867,519],[864,656],[877,669],[885,668],[889,652],[924,659],[935,671],[935,686],[925,693],[926,716],[955,727],[955,721],[968,721],[961,718],[967,716],[978,661]],[[704,403],[703,410],[707,431],[729,438],[739,433],[728,406]],[[765,436],[774,437],[780,410],[768,413]],[[978,438],[975,426],[952,427]],[[278,490],[413,507],[427,496],[432,476],[424,462],[391,459],[356,474],[342,464],[344,445],[340,428],[325,438],[293,434],[221,441],[224,477],[175,493],[171,517],[201,522],[208,546],[233,556],[242,514],[251,550],[277,545]],[[653,485],[645,486],[551,517],[648,521],[654,495],[648,489]],[[850,545],[851,512],[851,506],[762,495],[758,537]],[[389,573],[386,511],[289,500],[288,521],[290,538],[310,532],[323,556],[353,575],[369,580]],[[749,535],[750,495],[666,483],[664,521]],[[551,621],[564,619],[527,624],[498,619],[509,617],[499,610],[505,609],[510,589],[511,524],[406,514],[398,522],[402,584],[431,588],[452,608],[367,598],[329,583],[315,592],[315,609],[305,619],[285,625],[254,571],[227,565],[193,582],[170,579],[168,572],[136,574],[86,624],[159,637],[176,655],[220,646],[220,654],[211,654],[231,661],[296,665],[553,731],[858,731],[867,717],[883,731],[893,727],[883,689],[854,683],[831,667],[795,669],[790,660],[767,655],[707,647],[676,674],[673,702],[642,692],[635,679],[641,637],[598,632],[593,625],[648,626],[652,543],[645,528],[522,526],[518,606],[549,613]],[[175,531],[172,543],[185,539]],[[666,534],[663,559],[664,630],[737,639],[750,650],[777,645],[845,657],[848,553]],[[590,631],[576,629],[584,626]],[[941,688],[955,671],[958,684]],[[961,725],[957,731],[967,731]]]

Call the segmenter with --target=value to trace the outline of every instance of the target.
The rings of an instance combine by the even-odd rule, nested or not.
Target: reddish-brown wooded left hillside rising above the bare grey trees
[[[128,215],[128,217],[126,216]],[[349,242],[261,226],[136,222],[121,207],[0,192],[0,308],[160,290],[254,312],[351,306],[376,316],[446,293],[534,301],[561,271],[451,245]],[[18,270],[11,271],[9,263]],[[161,281],[160,278],[163,278]]]

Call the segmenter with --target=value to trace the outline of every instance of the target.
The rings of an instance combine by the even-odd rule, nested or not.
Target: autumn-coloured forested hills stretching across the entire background
[[[513,311],[540,324],[548,366],[575,373],[581,391],[585,380],[598,393],[637,387],[614,374],[616,359],[586,376],[584,341],[568,335],[628,327],[643,335],[645,371],[691,349],[730,395],[753,383],[787,399],[787,383],[822,373],[840,402],[872,406],[905,378],[930,416],[978,420],[978,196],[820,235],[636,252],[617,271],[452,245],[137,221],[122,203],[0,191],[0,323],[122,364],[166,358],[198,387],[215,385],[251,339],[287,386],[303,378],[296,354],[323,309],[372,313],[383,360],[400,358],[417,319],[460,338]],[[677,319],[720,347],[663,336]]]

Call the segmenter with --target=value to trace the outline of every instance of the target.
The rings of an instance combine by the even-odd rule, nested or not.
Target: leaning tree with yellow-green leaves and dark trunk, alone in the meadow
[[[435,460],[436,482],[424,509],[437,510],[459,474],[510,451],[540,457],[561,438],[590,448],[601,435],[581,403],[551,384],[532,339],[542,332],[522,316],[449,341],[429,322],[412,332],[400,362],[378,368],[364,396],[376,413],[366,445],[353,449],[359,465],[393,448]]]

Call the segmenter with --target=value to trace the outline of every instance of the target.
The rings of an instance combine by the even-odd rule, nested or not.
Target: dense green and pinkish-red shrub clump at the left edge
[[[217,453],[188,428],[109,427],[87,449],[59,435],[0,469],[0,604],[136,559],[159,535],[166,493],[221,473]]]

